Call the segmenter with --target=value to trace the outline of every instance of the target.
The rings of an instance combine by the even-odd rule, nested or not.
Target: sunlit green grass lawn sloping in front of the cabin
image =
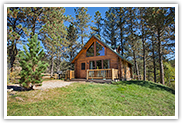
[[[152,83],[149,83],[152,84]],[[21,97],[24,101],[15,99]],[[174,116],[175,95],[138,81],[73,83],[8,97],[8,116]]]

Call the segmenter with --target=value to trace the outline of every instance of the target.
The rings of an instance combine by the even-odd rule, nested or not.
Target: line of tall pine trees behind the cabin
[[[170,84],[175,77],[175,8],[109,7],[103,18],[96,11],[94,20],[86,7],[74,8],[74,17],[63,7],[7,8],[7,60],[13,71],[18,45],[35,34],[49,63],[48,71],[73,69],[71,60],[84,41],[96,34],[134,63],[133,73],[143,80]],[[67,27],[65,22],[69,22]]]

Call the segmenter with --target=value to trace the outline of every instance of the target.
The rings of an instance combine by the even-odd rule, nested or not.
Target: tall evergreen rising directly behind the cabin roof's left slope
[[[77,7],[74,9],[75,16],[76,16],[76,21],[75,21],[75,26],[78,30],[78,34],[81,38],[81,44],[82,46],[84,45],[84,38],[89,37],[88,32],[88,27],[89,27],[89,22],[91,19],[90,14],[87,14],[88,9],[86,7]]]

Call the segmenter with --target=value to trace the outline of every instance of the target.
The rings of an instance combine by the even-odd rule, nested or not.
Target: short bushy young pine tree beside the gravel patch
[[[20,51],[20,72],[21,79],[19,80],[25,88],[30,88],[30,84],[39,84],[42,82],[42,75],[46,70],[47,64],[41,59],[44,57],[44,51],[37,40],[38,35],[34,35],[27,43],[28,50],[24,45],[24,51]]]

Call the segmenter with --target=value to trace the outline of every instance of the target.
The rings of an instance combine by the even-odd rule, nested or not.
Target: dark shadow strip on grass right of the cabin
[[[157,84],[151,81],[118,81],[118,82],[114,82],[113,84],[137,84],[137,85],[141,85],[143,87],[148,87],[151,89],[156,89],[156,90],[166,90],[172,94],[175,94],[175,90],[165,86],[165,85],[161,85],[161,84]]]

